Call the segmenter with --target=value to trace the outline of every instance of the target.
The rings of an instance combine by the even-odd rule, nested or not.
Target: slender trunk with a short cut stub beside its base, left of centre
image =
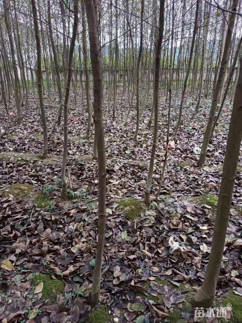
[[[67,160],[67,145],[68,145],[68,101],[70,94],[70,85],[71,85],[71,77],[72,77],[72,58],[73,52],[75,48],[76,41],[76,33],[78,26],[78,0],[74,0],[74,23],[72,29],[72,37],[71,44],[69,49],[69,57],[68,57],[68,69],[66,75],[66,91],[65,91],[65,99],[64,99],[64,149],[63,149],[63,159],[62,159],[62,167],[61,167],[61,180],[62,180],[62,191],[61,198],[67,198],[67,180],[66,180],[66,160]]]

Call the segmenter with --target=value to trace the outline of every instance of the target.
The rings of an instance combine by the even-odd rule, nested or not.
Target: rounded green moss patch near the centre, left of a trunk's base
[[[140,214],[145,212],[146,205],[136,199],[124,199],[119,201],[118,211],[126,214],[127,218],[131,221],[140,218]]]

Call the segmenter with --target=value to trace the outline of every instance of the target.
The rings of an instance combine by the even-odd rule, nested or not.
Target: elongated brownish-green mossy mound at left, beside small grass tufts
[[[34,191],[34,186],[29,184],[13,184],[5,188],[3,197],[9,194],[13,195],[15,198],[26,197],[27,199],[34,199],[38,207],[46,207],[50,205],[50,201],[46,196],[40,191]]]

